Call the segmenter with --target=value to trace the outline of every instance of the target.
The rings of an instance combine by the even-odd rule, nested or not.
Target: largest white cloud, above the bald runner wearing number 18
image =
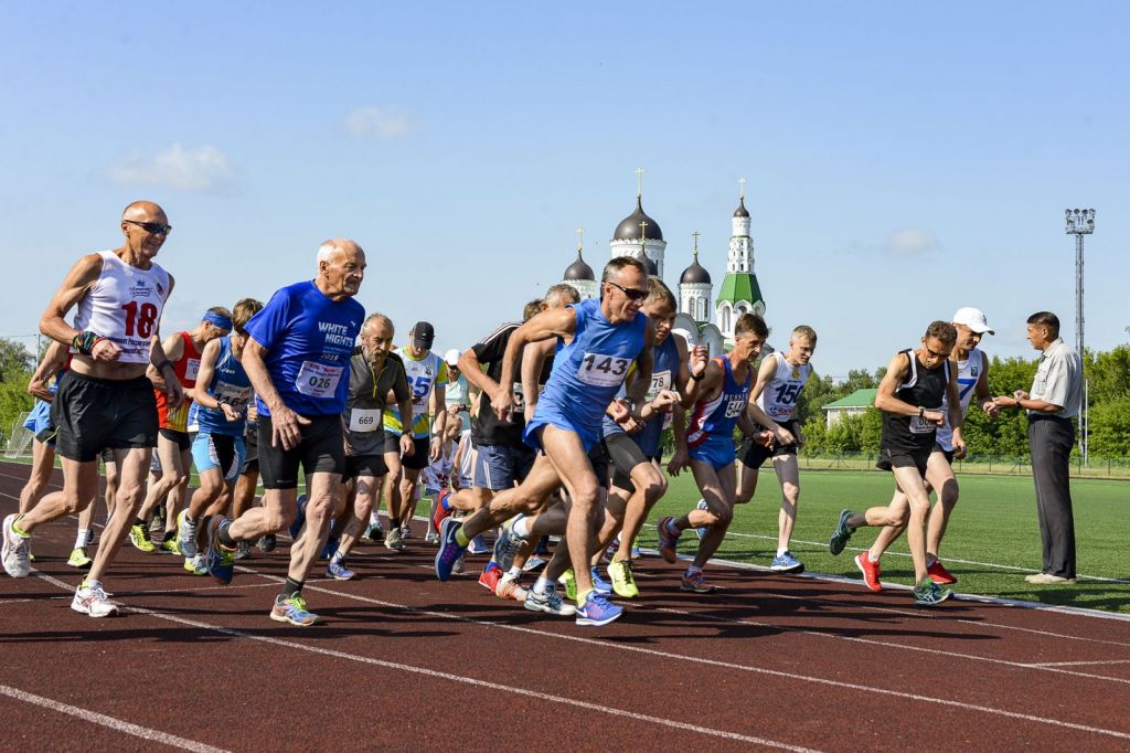
[[[127,155],[111,166],[110,179],[122,185],[218,193],[232,188],[236,172],[217,147],[206,144],[185,148],[175,142],[154,155]]]

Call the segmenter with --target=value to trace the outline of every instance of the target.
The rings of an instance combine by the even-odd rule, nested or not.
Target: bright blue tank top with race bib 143
[[[600,440],[605,409],[643,350],[647,315],[637,313],[632,321],[614,324],[600,311],[597,298],[571,308],[576,314],[573,341],[557,350],[525,440],[537,445],[532,431],[554,424],[576,432],[588,450]]]

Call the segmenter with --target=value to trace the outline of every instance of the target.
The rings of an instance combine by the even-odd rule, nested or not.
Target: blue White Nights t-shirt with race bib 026
[[[364,319],[355,300],[331,301],[307,280],[277,291],[246,329],[267,348],[267,373],[282,403],[303,416],[328,416],[345,410],[349,358]],[[262,399],[255,405],[270,415]]]

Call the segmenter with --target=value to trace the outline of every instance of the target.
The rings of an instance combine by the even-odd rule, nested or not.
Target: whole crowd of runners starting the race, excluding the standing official
[[[155,258],[172,227],[159,206],[137,201],[121,231],[120,248],[78,260],[42,318],[53,344],[29,388],[32,475],[19,512],[2,522],[3,569],[20,578],[32,572],[36,529],[78,514],[68,563],[85,571],[78,612],[116,614],[104,579],[127,539],[228,583],[237,560],[288,536],[289,570],[270,616],[311,625],[318,616],[303,585],[354,578],[349,556],[364,538],[405,551],[425,499],[421,538],[436,547],[441,581],[481,555],[478,582],[494,596],[603,625],[640,594],[636,542],[668,475],[689,470],[701,500],[653,523],[659,552],[676,563],[693,531],[678,587],[707,594],[705,568],[766,460],[781,487],[770,566],[805,569],[790,539],[803,443],[797,408],[817,344],[810,327],[760,357],[770,330],[747,313],[732,349],[710,357],[671,331],[677,304],[667,286],[619,257],[605,266],[598,298],[555,285],[515,311],[520,321],[441,356],[432,323],[416,322],[395,347],[392,320],[366,315],[356,300],[365,252],[336,239],[318,250],[313,279],[266,303],[214,306],[194,329],[162,339],[174,279]],[[896,492],[863,513],[844,510],[829,540],[840,554],[858,528],[881,527],[855,557],[872,590],[881,589],[880,555],[905,530],[914,599],[951,595],[944,587],[956,579],[938,553],[957,502],[950,464],[965,453],[963,417],[974,397],[989,415],[1018,403],[989,393],[984,334],[984,313],[959,309],[897,353],[881,380],[879,466]],[[56,453],[63,487],[45,494]],[[107,517],[94,547],[99,468]]]

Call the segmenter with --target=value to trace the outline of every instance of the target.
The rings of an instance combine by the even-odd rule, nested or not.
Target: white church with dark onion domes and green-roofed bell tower
[[[695,233],[690,266],[679,276],[676,298],[679,311],[675,318],[675,331],[687,338],[692,345],[706,345],[710,354],[721,355],[733,343],[733,324],[744,313],[765,315],[765,301],[754,271],[754,241],[749,235],[749,211],[746,209],[745,190],[738,200],[738,208],[731,220],[730,251],[725,265],[725,277],[718,297],[713,298],[714,284],[710,272],[698,263],[698,234]],[[649,274],[663,278],[663,257],[667,241],[659,223],[643,210],[643,193],[636,194],[635,211],[620,220],[609,242],[611,256],[634,257],[644,262]],[[583,249],[577,245],[576,261],[565,269],[563,282],[572,285],[581,298],[594,298],[600,285],[596,274],[583,258]],[[663,280],[667,282],[667,280]],[[670,287],[670,284],[668,284]],[[713,298],[713,300],[712,300]]]

